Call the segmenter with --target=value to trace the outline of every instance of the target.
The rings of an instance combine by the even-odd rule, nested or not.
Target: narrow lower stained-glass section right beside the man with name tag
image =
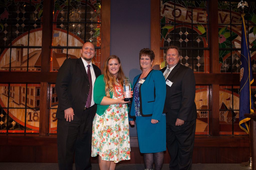
[[[195,103],[197,108],[196,134],[209,134],[209,86],[196,86]]]

